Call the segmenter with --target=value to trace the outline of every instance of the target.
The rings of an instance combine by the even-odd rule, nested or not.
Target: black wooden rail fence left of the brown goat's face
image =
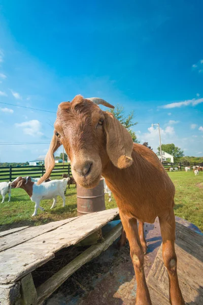
[[[0,167],[0,181],[13,181],[19,176],[31,176],[32,178],[39,178],[45,173],[44,165],[39,166],[7,166]],[[68,174],[72,176],[71,164],[66,163],[63,165],[55,166],[51,176],[60,177],[62,174]]]

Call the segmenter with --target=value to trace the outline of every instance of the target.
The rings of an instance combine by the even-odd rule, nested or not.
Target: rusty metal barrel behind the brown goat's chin
[[[103,211],[105,206],[104,179],[93,189],[85,189],[77,185],[78,216]]]

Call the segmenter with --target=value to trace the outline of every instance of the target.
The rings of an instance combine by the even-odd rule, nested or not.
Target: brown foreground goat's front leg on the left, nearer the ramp
[[[144,254],[139,238],[137,219],[128,218],[126,215],[122,215],[121,211],[120,218],[123,224],[123,229],[125,230],[127,239],[129,241],[130,256],[132,259],[134,271],[136,272],[136,305],[152,305],[145,279]]]

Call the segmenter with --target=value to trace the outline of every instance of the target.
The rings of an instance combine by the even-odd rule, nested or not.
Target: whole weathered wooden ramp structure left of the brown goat
[[[105,236],[101,235],[100,230],[118,214],[118,208],[114,208],[38,227],[23,227],[2,233],[0,304],[41,304],[72,273],[106,250],[119,237],[121,223]],[[62,248],[78,244],[92,246],[36,289],[31,272],[53,259],[54,254]]]

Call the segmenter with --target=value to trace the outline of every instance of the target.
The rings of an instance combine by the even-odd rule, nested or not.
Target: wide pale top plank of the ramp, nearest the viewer
[[[54,257],[62,248],[75,245],[118,215],[118,208],[76,218],[51,232],[0,252],[0,283],[16,282]]]

